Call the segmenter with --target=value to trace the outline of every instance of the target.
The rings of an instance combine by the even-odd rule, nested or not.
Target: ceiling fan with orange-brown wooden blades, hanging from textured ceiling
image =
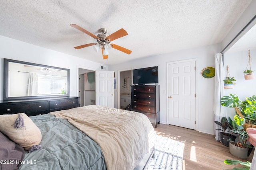
[[[75,49],[82,49],[84,47],[93,46],[94,50],[98,51],[101,48],[103,59],[108,59],[108,53],[111,48],[117,49],[126,54],[132,53],[132,51],[130,51],[124,47],[121,47],[119,45],[112,44],[112,43],[110,44],[110,41],[114,41],[115,39],[118,39],[118,38],[128,35],[128,33],[122,28],[108,36],[106,36],[107,30],[105,28],[101,28],[100,29],[101,33],[96,36],[76,24],[70,24],[70,26],[78,29],[79,31],[82,31],[83,33],[86,33],[87,35],[90,35],[91,37],[96,39],[98,42],[98,43],[90,43],[90,44],[80,45],[80,46],[74,47]]]

